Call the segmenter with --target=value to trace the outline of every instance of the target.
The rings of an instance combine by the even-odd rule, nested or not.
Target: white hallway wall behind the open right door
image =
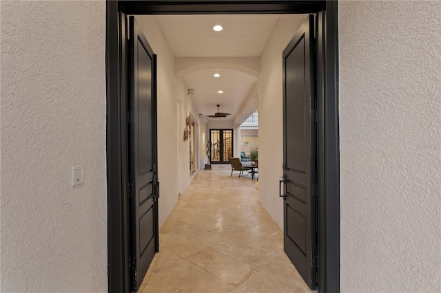
[[[283,229],[283,199],[278,182],[283,175],[282,52],[306,15],[282,15],[260,59],[259,78],[259,197],[269,215]]]

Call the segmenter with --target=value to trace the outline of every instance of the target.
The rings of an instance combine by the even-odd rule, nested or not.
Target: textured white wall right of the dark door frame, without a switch
[[[441,2],[341,1],[341,290],[441,292]]]

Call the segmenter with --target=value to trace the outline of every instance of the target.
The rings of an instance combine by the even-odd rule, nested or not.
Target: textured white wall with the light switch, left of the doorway
[[[0,3],[1,290],[107,292],[105,1]]]

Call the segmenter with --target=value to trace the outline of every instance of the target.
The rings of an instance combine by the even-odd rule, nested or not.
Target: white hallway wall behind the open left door
[[[175,58],[156,17],[139,16],[136,19],[153,52],[158,55],[158,177],[161,182],[158,208],[161,227],[178,202],[178,172],[182,174],[183,191],[192,180],[189,174],[189,140],[183,142],[182,153],[176,153],[176,145],[178,139],[183,140],[185,117],[191,112],[198,124],[199,113],[187,94],[188,88],[183,78],[174,74]],[[183,121],[179,129],[176,123],[178,117],[176,97],[181,98],[183,109],[181,113]],[[181,155],[182,164],[176,168],[176,162],[179,162],[178,155]]]

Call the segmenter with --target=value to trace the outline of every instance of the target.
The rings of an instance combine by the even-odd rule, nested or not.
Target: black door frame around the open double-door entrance
[[[340,292],[338,3],[307,0],[106,1],[107,285],[130,292],[125,14],[286,14],[326,8],[318,23],[318,290]]]

